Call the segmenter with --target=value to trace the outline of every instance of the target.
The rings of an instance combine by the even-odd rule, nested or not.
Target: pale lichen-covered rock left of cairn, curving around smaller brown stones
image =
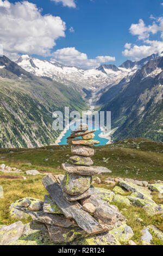
[[[31,197],[26,197],[26,198],[19,199],[19,200],[17,200],[16,202],[14,202],[14,203],[12,203],[12,204],[10,205],[10,217],[12,217],[12,218],[17,218],[17,219],[20,219],[20,220],[21,220],[22,218],[28,218],[28,217],[29,217],[29,215],[26,214],[25,212],[15,209],[16,206],[21,206],[21,203],[22,203],[24,200],[29,200],[30,205],[32,205],[32,204],[34,204],[34,203],[37,203],[37,202],[40,202],[39,199],[31,198]]]

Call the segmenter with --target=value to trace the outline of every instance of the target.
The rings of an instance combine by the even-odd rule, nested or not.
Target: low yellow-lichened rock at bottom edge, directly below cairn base
[[[84,237],[83,239],[75,240],[71,245],[121,245],[121,243],[115,238],[114,235],[110,235],[108,232],[102,233],[96,236]]]

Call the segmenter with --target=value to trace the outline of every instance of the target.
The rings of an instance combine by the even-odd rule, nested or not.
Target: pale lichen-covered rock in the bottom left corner
[[[20,238],[24,225],[21,221],[15,222],[0,231],[0,245],[8,245]]]

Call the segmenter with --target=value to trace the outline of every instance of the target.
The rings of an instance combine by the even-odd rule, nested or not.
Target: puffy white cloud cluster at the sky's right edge
[[[126,44],[125,50],[122,54],[126,57],[139,60],[147,57],[153,53],[160,53],[163,51],[163,17],[154,18],[152,25],[146,26],[145,22],[140,19],[139,23],[132,24],[129,31],[132,35],[137,35],[139,40],[143,41],[143,45]],[[161,40],[150,40],[150,36],[160,32]]]

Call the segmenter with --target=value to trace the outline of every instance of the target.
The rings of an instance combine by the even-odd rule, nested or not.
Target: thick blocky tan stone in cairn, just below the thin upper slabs
[[[89,146],[72,145],[71,153],[73,155],[79,155],[79,156],[93,156],[95,153],[95,150]]]

